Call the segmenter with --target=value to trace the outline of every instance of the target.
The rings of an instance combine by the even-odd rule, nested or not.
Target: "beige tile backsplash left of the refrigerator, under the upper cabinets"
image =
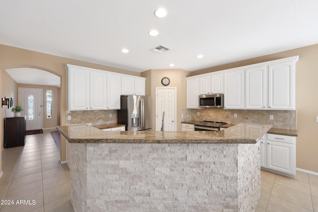
[[[109,117],[109,114],[111,114],[111,118]],[[71,116],[71,120],[68,120],[67,116]],[[85,123],[117,123],[117,110],[80,110],[66,113],[66,125]]]

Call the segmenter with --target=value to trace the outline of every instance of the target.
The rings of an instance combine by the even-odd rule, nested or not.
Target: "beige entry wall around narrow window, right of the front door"
[[[58,126],[58,104],[60,100],[58,99],[58,87],[56,86],[44,86],[44,85],[29,85],[29,84],[17,84],[18,88],[37,88],[42,89],[42,114],[43,114],[43,129],[55,128]],[[46,91],[52,91],[52,118],[46,117]]]

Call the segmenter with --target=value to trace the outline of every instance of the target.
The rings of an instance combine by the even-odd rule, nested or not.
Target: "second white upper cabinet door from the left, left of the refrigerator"
[[[90,71],[90,109],[106,109],[107,74]]]

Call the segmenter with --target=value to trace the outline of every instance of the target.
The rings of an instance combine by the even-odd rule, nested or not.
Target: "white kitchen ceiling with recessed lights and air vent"
[[[159,7],[166,17],[154,16]],[[317,8],[318,0],[1,0],[0,44],[138,72],[170,63],[195,71],[318,44]],[[171,50],[150,51],[158,45]]]

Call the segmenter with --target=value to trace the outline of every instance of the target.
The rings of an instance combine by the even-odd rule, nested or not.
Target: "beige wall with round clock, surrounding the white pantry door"
[[[186,107],[186,81],[185,77],[190,75],[190,71],[183,69],[151,69],[141,73],[142,77],[147,77],[146,80],[146,95],[152,97],[152,117],[153,117],[153,130],[156,129],[156,87],[176,87],[177,88],[177,102],[176,102],[176,118],[177,130],[181,130],[181,113],[182,108]],[[162,77],[168,77],[170,84],[163,86],[161,84]]]

